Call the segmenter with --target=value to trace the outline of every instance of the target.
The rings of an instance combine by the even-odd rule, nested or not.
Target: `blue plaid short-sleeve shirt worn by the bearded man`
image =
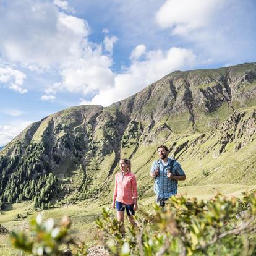
[[[168,164],[166,166],[164,166],[161,160],[156,160],[150,169],[150,172],[153,173],[155,169],[159,168],[159,174],[155,179],[154,192],[161,198],[169,198],[177,194],[177,181],[167,177],[167,169],[170,169],[171,160],[171,158],[168,158]],[[185,175],[181,165],[177,161],[174,161],[171,173],[175,176]]]

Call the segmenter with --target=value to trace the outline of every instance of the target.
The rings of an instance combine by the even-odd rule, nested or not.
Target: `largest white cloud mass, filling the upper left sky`
[[[54,4],[63,9],[66,1]],[[31,72],[42,74],[44,70],[53,70],[52,67],[59,72],[61,81],[48,86],[46,96],[58,91],[85,95],[112,87],[111,54],[117,37],[106,35],[102,44],[90,42],[86,20],[60,12],[54,4],[32,0],[24,4],[14,0],[0,7],[0,29],[3,30],[0,54],[6,61],[22,63]],[[24,19],[16,18],[20,15]],[[15,89],[14,84],[12,88]]]

